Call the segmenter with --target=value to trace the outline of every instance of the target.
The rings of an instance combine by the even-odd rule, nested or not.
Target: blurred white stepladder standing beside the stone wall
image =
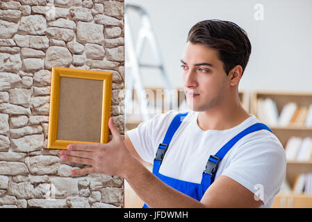
[[[133,41],[133,35],[131,33],[131,27],[129,25],[129,11],[138,13],[140,17],[140,28],[138,31],[138,40]],[[136,89],[136,94],[138,96],[138,102],[140,104],[140,112],[143,117],[143,121],[150,119],[149,114],[149,102],[147,101],[147,96],[145,94],[145,87],[142,81],[141,67],[149,67],[158,69],[161,72],[161,77],[163,83],[165,84],[165,96],[169,99],[170,108],[177,108],[178,99],[177,94],[174,93],[172,85],[167,78],[165,73],[165,68],[163,66],[163,58],[161,57],[161,51],[156,42],[155,33],[151,27],[151,20],[147,12],[140,6],[131,5],[125,3],[124,5],[124,37],[125,37],[125,49],[127,60],[125,62],[126,69],[131,69],[127,72],[131,74],[129,78],[129,83],[126,84],[126,95],[125,95],[125,109],[124,109],[124,122],[126,123],[126,116],[129,113],[129,108],[131,107],[130,103],[132,101],[133,90]],[[151,45],[151,50],[154,52],[156,65],[154,64],[143,64],[140,60],[142,57],[142,51],[145,45],[145,42],[148,40]]]

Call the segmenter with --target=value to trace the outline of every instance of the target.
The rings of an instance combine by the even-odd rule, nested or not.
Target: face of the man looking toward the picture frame
[[[217,50],[188,42],[181,67],[188,108],[203,112],[222,103],[229,84]]]

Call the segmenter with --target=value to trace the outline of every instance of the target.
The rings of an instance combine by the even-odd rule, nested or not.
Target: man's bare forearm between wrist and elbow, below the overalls
[[[149,207],[205,207],[199,201],[169,187],[131,157],[123,177]]]

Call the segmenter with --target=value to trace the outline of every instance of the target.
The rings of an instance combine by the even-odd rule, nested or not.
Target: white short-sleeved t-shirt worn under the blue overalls
[[[138,155],[153,163],[158,144],[176,114],[170,110],[156,114],[149,121],[127,134]],[[215,155],[230,139],[245,128],[258,123],[252,115],[238,126],[227,130],[202,130],[197,124],[199,112],[188,110],[170,145],[159,169],[159,173],[200,183],[202,172],[210,155]],[[262,207],[271,207],[286,173],[286,155],[279,139],[268,130],[258,130],[241,138],[224,156],[219,164],[215,180],[221,175],[236,180],[263,200]]]

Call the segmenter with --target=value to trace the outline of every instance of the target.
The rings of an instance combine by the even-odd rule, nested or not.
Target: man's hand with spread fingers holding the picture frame
[[[124,169],[133,157],[126,148],[112,117],[108,120],[108,126],[113,139],[107,144],[70,144],[67,150],[60,151],[62,160],[92,166],[73,170],[72,175],[104,173],[124,177]]]

